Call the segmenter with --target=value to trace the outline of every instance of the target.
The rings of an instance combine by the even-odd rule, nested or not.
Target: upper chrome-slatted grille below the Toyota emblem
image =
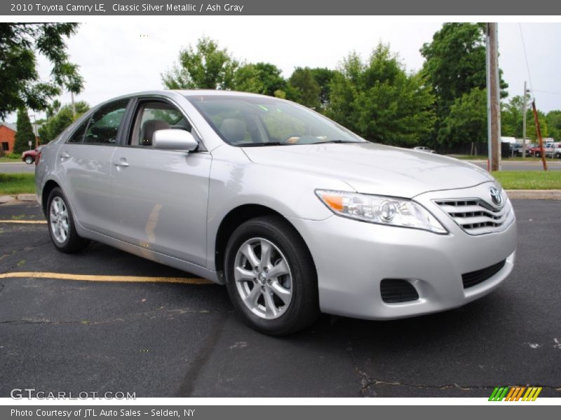
[[[513,219],[508,200],[501,209],[478,198],[438,200],[435,203],[470,235],[498,232],[506,228]]]

